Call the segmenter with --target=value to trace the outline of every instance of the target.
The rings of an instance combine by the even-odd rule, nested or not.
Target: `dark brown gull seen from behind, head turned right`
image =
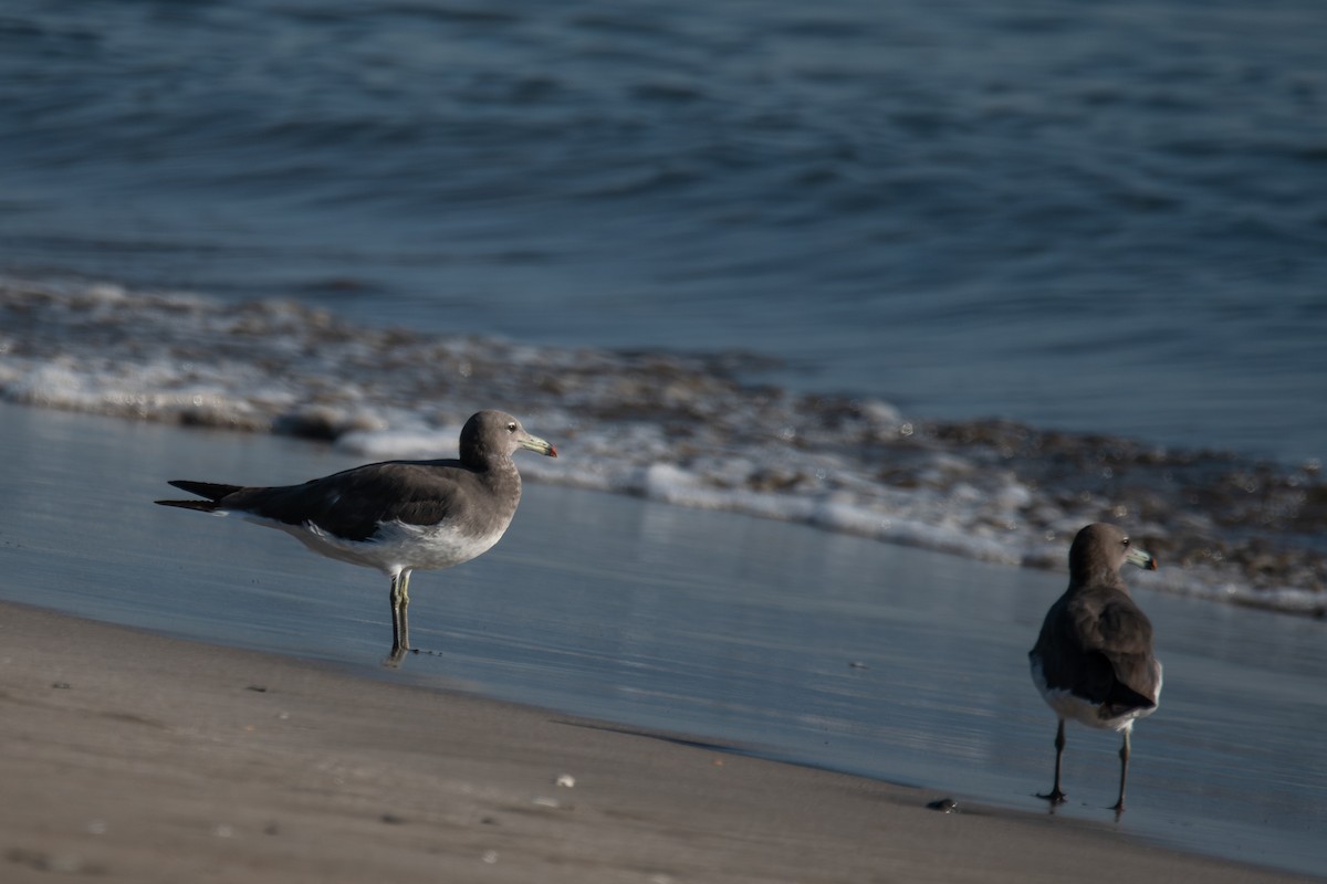
[[[1120,567],[1131,562],[1156,570],[1151,554],[1132,546],[1113,525],[1088,525],[1070,547],[1070,588],[1046,612],[1036,647],[1028,652],[1032,681],[1059,716],[1055,733],[1055,785],[1046,795],[1064,802],[1060,759],[1064,722],[1119,730],[1120,799],[1129,773],[1129,734],[1137,718],[1152,714],[1161,696],[1161,663],[1152,653],[1152,623],[1129,598]]]

